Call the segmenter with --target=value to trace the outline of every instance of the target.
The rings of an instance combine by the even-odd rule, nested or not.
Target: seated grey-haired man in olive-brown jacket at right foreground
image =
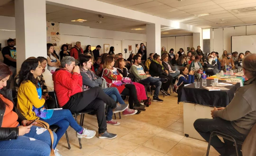
[[[209,142],[212,131],[231,135],[235,140],[243,142],[256,123],[256,54],[244,57],[243,73],[248,80],[244,81],[243,87],[236,90],[235,96],[228,106],[225,108],[214,107],[211,110],[213,119],[197,119],[194,122],[195,129],[207,142]],[[252,139],[254,137],[249,138],[249,140]],[[224,142],[217,136],[211,139],[211,145],[222,156],[234,154],[233,143],[225,139]],[[238,152],[241,151],[238,149]]]

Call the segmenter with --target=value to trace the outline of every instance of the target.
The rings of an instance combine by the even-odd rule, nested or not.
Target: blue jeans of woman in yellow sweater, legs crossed
[[[80,132],[83,129],[75,121],[73,115],[71,114],[70,110],[68,110],[68,109],[54,110],[51,118],[49,118],[49,119],[40,118],[40,120],[47,122],[50,126],[56,125],[59,127],[55,131],[55,133],[57,135],[57,141],[56,141],[55,147],[58,144],[62,135],[68,129],[68,126],[72,127],[76,132]]]

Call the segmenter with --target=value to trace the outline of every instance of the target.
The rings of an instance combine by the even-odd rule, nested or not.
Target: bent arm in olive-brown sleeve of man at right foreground
[[[235,121],[250,113],[252,109],[247,100],[244,99],[244,96],[249,94],[248,92],[249,90],[244,92],[243,89],[238,88],[234,98],[228,106],[225,109],[215,111],[214,116],[227,121]]]

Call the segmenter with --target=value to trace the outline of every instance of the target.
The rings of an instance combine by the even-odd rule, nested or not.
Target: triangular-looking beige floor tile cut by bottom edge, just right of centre
[[[136,148],[134,151],[130,152],[127,156],[163,156],[164,153],[140,146]]]

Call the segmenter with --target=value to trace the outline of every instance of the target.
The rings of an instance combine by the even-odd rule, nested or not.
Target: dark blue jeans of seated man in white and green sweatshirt
[[[156,90],[154,92],[153,98],[157,98],[158,95],[159,95],[160,88],[162,86],[162,82],[160,80],[161,80],[161,78],[155,78],[155,77],[149,76],[146,79],[140,80],[139,83],[143,84],[144,86],[148,85],[148,84],[155,85],[156,86]]]

